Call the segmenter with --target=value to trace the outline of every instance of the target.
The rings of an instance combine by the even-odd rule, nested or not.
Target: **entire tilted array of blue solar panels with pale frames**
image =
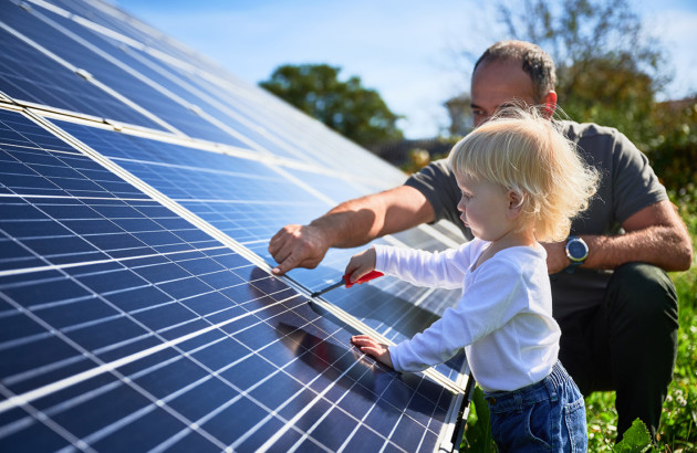
[[[405,176],[108,3],[0,2],[0,451],[450,451],[464,357],[397,373],[457,292],[312,299],[284,224]],[[443,249],[436,224],[378,242]]]

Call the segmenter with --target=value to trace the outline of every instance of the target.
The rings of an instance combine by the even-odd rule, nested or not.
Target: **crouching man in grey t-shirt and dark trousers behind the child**
[[[554,64],[539,46],[492,45],[472,74],[475,126],[520,102],[551,118],[554,84]],[[559,123],[603,175],[569,240],[544,244],[562,329],[560,359],[584,394],[616,391],[618,440],[636,418],[655,435],[677,350],[677,297],[665,271],[689,268],[689,234],[646,157],[624,135]],[[279,263],[273,272],[314,267],[330,246],[358,246],[420,223],[447,219],[460,227],[458,199],[445,162],[433,162],[404,186],[344,202],[309,225],[281,229],[269,244]],[[471,239],[469,231],[464,234]]]

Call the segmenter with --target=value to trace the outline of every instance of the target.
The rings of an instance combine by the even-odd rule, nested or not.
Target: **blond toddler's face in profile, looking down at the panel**
[[[510,207],[508,191],[499,185],[457,172],[455,178],[462,192],[457,209],[475,238],[496,241],[506,235],[511,230],[507,215]]]

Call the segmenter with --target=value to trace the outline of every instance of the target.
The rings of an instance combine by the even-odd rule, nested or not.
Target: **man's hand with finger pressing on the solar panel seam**
[[[322,230],[312,225],[285,225],[269,241],[269,253],[279,263],[271,272],[283,275],[295,267],[314,268],[329,247]]]

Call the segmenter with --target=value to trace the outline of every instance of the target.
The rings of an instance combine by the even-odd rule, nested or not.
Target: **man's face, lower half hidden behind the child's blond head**
[[[516,61],[492,61],[477,67],[471,85],[475,127],[489,119],[498,108],[517,101],[538,104],[532,80],[521,66]]]

